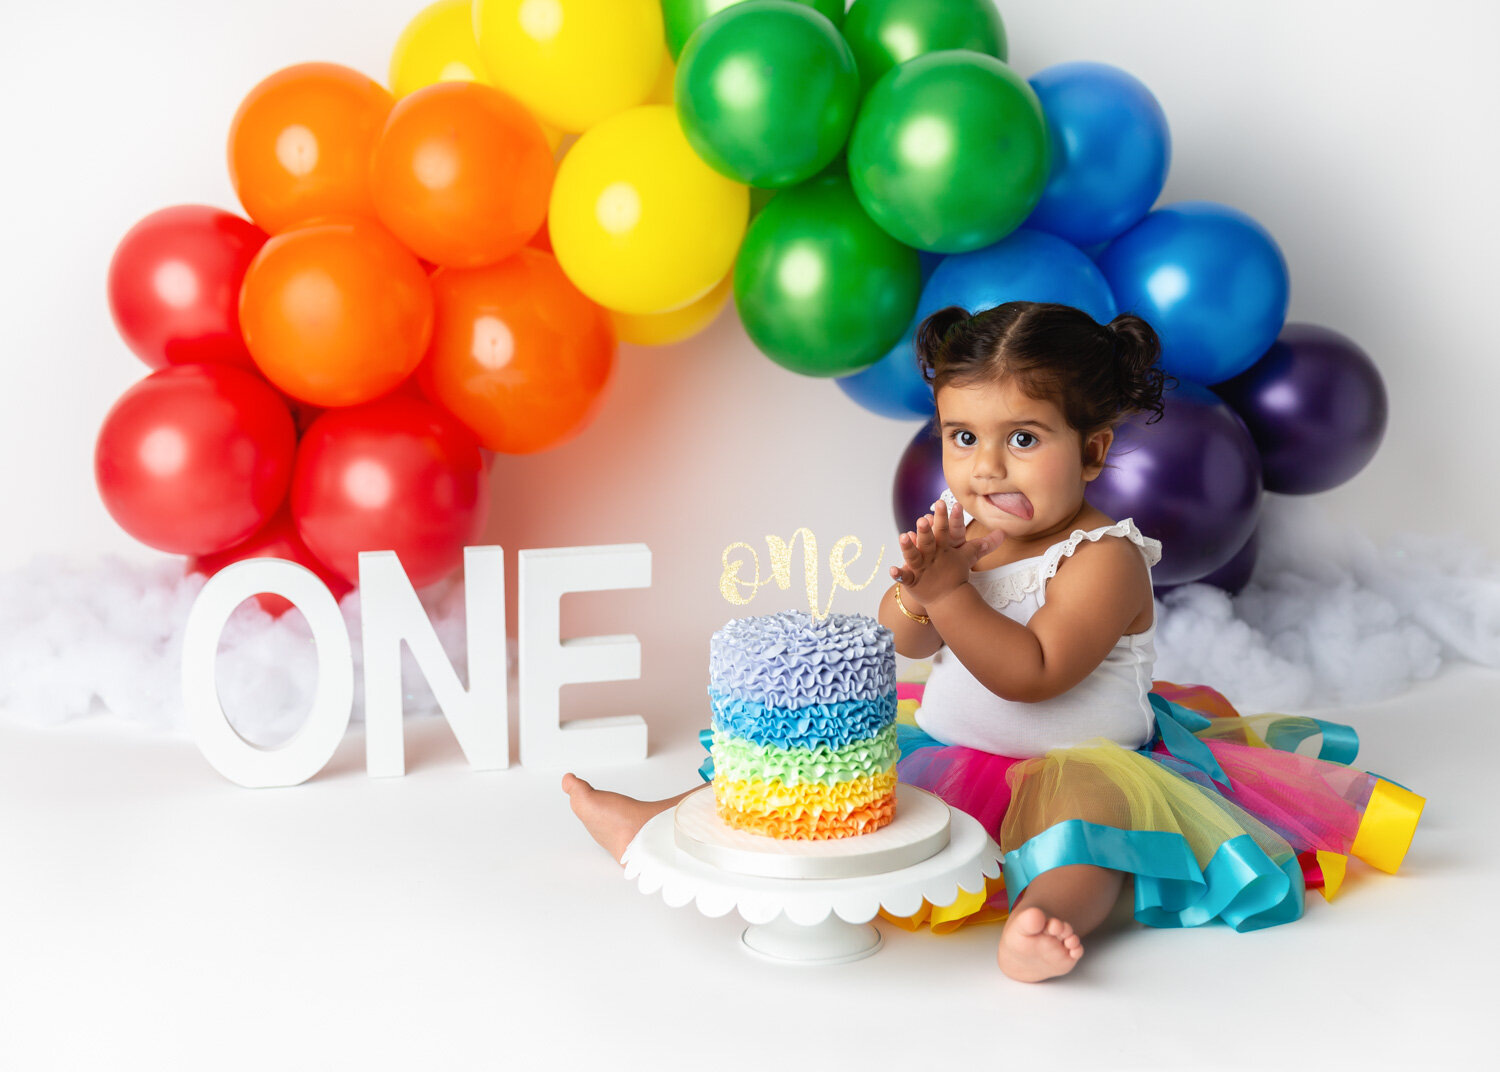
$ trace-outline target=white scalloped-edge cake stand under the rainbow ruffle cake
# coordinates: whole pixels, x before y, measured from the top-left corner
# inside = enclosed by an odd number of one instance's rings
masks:
[[[765,838],[747,849],[742,831],[711,829],[712,789],[699,792],[710,793],[706,802],[694,795],[678,804],[688,816],[682,826],[669,810],[640,828],[621,858],[626,879],[672,907],[696,904],[711,918],[738,910],[750,924],[741,946],[776,964],[861,960],[884,943],[870,925],[882,910],[910,916],[922,901],[952,904],[960,889],[978,894],[1000,874],[1000,850],[984,828],[912,786],[897,787],[888,828],[824,847]],[[932,837],[942,826],[946,838]],[[927,855],[914,859],[914,846]]]

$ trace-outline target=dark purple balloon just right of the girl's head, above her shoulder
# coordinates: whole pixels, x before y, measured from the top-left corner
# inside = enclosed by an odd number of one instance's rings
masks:
[[[1245,546],[1260,514],[1260,454],[1245,423],[1204,387],[1180,382],[1155,424],[1120,424],[1110,465],[1088,499],[1116,520],[1134,517],[1161,540],[1158,585],[1198,580]]]

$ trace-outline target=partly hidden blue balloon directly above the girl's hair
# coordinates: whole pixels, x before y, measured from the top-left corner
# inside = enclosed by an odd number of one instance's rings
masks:
[[[922,288],[916,319],[946,306],[976,313],[1006,301],[1056,301],[1100,324],[1114,319],[1114,295],[1094,261],[1054,234],[1024,228],[993,246],[945,256]]]

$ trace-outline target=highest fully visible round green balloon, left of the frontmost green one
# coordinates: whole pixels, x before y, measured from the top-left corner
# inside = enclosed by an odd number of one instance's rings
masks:
[[[704,22],[676,67],[676,115],[708,166],[796,186],[849,138],[860,73],[838,30],[790,0],[746,0]]]

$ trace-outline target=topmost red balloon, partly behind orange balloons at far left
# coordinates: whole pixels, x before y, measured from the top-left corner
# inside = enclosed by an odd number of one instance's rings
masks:
[[[224,361],[250,367],[240,282],[266,232],[210,205],[172,205],[132,226],[110,261],[110,312],[153,369]]]

